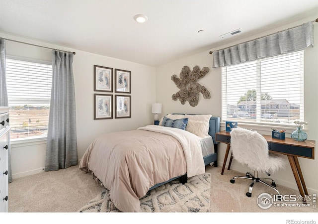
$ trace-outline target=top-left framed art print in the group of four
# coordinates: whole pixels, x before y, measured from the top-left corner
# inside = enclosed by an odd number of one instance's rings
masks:
[[[113,92],[113,69],[94,65],[94,91]]]

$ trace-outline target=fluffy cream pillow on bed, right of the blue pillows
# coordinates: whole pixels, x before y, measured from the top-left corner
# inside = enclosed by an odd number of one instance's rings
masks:
[[[196,115],[185,114],[184,117],[189,118],[189,121],[185,130],[200,137],[208,136],[211,116],[212,116],[211,114],[202,114],[202,115],[201,114],[196,114]]]

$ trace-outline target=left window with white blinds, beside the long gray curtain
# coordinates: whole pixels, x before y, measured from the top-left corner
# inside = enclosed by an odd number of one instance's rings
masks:
[[[52,65],[6,59],[10,139],[47,136]]]

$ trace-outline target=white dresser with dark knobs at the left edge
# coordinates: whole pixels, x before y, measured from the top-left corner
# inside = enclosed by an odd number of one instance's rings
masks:
[[[8,212],[9,108],[0,107],[0,212]]]

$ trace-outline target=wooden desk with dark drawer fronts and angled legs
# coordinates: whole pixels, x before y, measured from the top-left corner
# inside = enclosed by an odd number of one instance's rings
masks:
[[[292,168],[299,193],[305,198],[308,195],[307,187],[303,177],[300,164],[298,162],[298,157],[315,159],[315,144],[316,141],[306,140],[306,141],[295,141],[292,138],[286,138],[285,140],[272,138],[271,135],[263,135],[268,142],[268,150],[273,153],[279,153],[287,155],[289,164]],[[215,139],[217,142],[226,143],[227,150],[225,152],[223,167],[221,174],[223,175],[226,162],[228,160],[230,148],[231,148],[231,135],[230,132],[220,131],[215,133]],[[228,170],[232,163],[232,153],[228,166]]]

